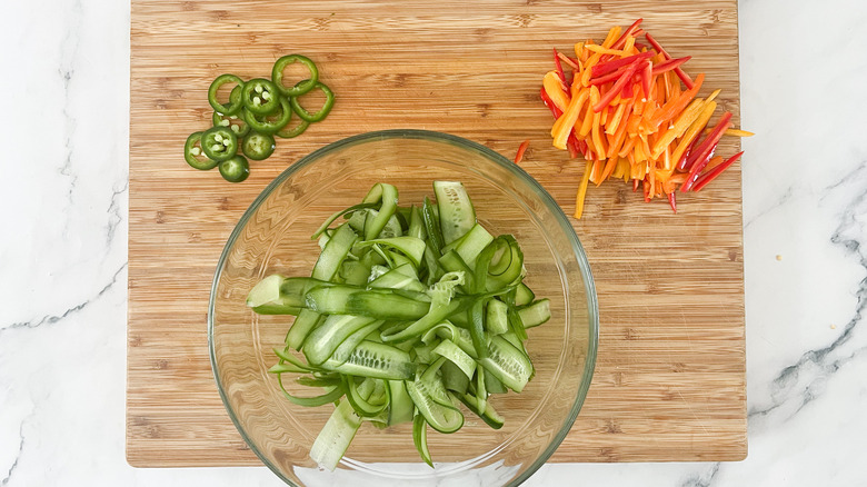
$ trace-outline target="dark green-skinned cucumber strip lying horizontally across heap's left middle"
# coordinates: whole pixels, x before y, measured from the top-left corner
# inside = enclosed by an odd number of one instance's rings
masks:
[[[325,315],[358,315],[378,319],[419,319],[430,304],[391,290],[363,290],[349,286],[320,287],[307,294],[307,307]]]

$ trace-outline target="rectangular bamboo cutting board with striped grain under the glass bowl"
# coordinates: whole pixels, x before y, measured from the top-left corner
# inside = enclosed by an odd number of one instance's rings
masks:
[[[287,166],[370,130],[451,132],[512,157],[574,210],[584,169],[551,147],[538,99],[551,48],[644,27],[739,122],[737,3],[672,1],[132,0],[127,457],[141,467],[257,465],[217,394],[206,337],[217,259],[241,213]],[[230,185],[190,169],[220,73],[267,77],[305,53],[338,96],[328,119]],[[721,110],[720,110],[721,111]],[[726,140],[721,153],[734,153]],[[747,161],[749,159],[747,158]],[[551,461],[738,460],[746,456],[740,172],[646,205],[591,188],[575,228],[599,295],[589,395]]]

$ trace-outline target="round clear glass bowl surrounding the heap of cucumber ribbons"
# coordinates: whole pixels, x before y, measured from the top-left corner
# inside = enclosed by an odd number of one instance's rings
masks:
[[[306,408],[283,398],[267,370],[277,361],[272,349],[283,347],[292,317],[251,312],[247,294],[270,274],[309,276],[319,255],[310,236],[326,217],[361,201],[373,183],[390,182],[401,205],[418,205],[425,196],[432,198],[437,179],[464,182],[479,221],[492,235],[517,238],[525,252],[525,282],[537,298],[550,299],[550,321],[528,330],[536,376],[521,394],[491,397],[506,418],[501,429],[491,429],[466,409],[459,431],[429,429],[436,468],[419,458],[411,424],[377,429],[365,423],[338,468],[320,469],[309,451],[333,406]],[[289,485],[518,485],[554,454],[587,395],[598,342],[596,290],[569,220],[520,167],[446,133],[370,132],[305,157],[252,202],[217,266],[208,341],[217,386],[235,426]],[[298,386],[296,392],[311,391]]]

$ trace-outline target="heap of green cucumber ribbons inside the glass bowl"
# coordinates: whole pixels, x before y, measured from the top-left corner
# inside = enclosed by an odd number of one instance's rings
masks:
[[[337,401],[310,453],[325,468],[337,466],[362,420],[377,428],[412,421],[419,456],[432,466],[428,426],[459,430],[462,402],[500,428],[490,395],[520,391],[534,375],[526,328],[550,309],[522,282],[520,246],[476,221],[461,183],[434,187],[436,206],[401,207],[397,188],[376,185],[316,231],[321,252],[311,277],[275,274],[247,296],[256,312],[297,316],[269,369],[287,399]],[[318,391],[290,394],[286,374]]]

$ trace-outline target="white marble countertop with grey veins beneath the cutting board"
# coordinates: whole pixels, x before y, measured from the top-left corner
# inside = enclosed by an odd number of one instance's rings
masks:
[[[0,486],[277,486],[124,459],[129,14],[0,17]],[[867,483],[865,21],[857,0],[740,1],[748,458],[548,465],[528,485]]]

